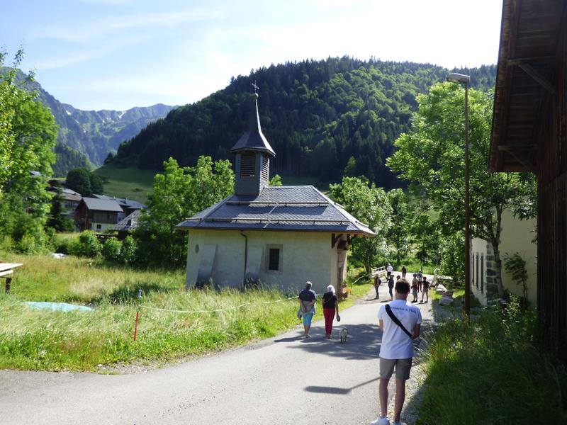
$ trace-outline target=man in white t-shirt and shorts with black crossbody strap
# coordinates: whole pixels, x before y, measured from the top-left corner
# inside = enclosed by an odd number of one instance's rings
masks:
[[[388,382],[395,367],[395,402],[393,425],[402,424],[402,413],[405,400],[405,381],[410,378],[412,357],[414,356],[412,340],[420,336],[421,312],[420,309],[408,303],[410,284],[408,280],[400,279],[395,283],[395,300],[388,303],[391,313],[400,324],[386,311],[386,305],[378,310],[380,329],[382,329],[382,344],[380,347],[380,397],[381,414],[372,421],[371,425],[390,425],[388,418]],[[409,333],[409,335],[408,335]]]

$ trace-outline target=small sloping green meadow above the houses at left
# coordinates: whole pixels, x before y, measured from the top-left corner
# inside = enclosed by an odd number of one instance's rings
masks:
[[[108,179],[104,183],[104,194],[128,198],[147,203],[147,196],[152,192],[152,183],[157,171],[141,170],[135,167],[119,167],[104,165],[94,171],[94,174]]]

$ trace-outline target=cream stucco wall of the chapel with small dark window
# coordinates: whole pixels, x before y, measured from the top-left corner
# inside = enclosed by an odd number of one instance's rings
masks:
[[[329,284],[337,288],[337,249],[331,248],[330,233],[266,231],[242,233],[248,237],[249,255],[257,249],[262,249],[262,261],[259,267],[259,279],[262,283],[276,285],[286,292],[296,292],[303,288],[306,280],[313,283],[316,293],[325,292]],[[267,270],[266,246],[270,244],[281,245],[281,271]],[[206,245],[209,245],[208,249]],[[206,255],[207,250],[210,251],[211,245],[216,245],[212,271],[213,283],[220,286],[240,287],[245,267],[245,238],[240,234],[240,230],[189,230],[187,285],[195,285],[202,256]],[[345,260],[345,275],[346,269]]]

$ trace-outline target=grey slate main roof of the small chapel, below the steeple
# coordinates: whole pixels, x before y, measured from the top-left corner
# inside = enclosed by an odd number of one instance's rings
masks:
[[[374,237],[374,232],[313,186],[266,186],[258,196],[232,195],[177,229],[286,230]]]

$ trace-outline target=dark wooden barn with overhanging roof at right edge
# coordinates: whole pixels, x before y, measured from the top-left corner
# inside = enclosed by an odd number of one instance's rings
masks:
[[[503,2],[489,166],[537,176],[541,336],[567,363],[566,5]]]

